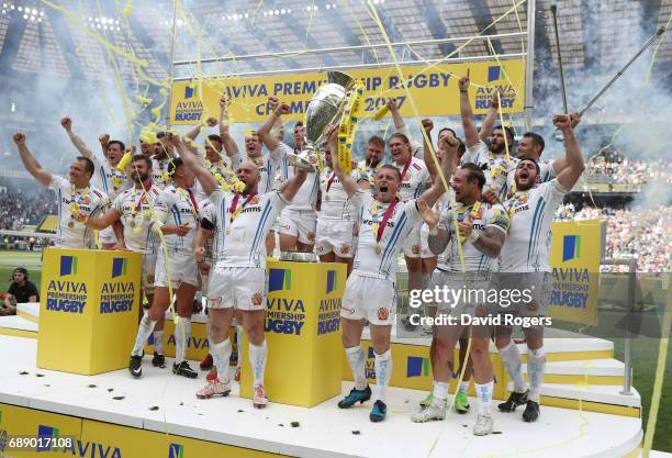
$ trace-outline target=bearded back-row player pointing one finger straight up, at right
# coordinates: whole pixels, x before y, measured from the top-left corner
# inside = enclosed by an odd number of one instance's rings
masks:
[[[508,192],[507,179],[512,157],[506,154],[506,146],[508,145],[509,152],[513,150],[514,132],[511,127],[495,126],[490,136],[490,148],[488,147],[473,122],[473,112],[469,101],[469,70],[467,70],[467,76],[461,77],[458,81],[460,114],[464,127],[464,144],[467,145],[467,153],[462,156],[460,164],[472,163],[484,170],[483,198],[488,202],[494,203],[503,201]],[[483,134],[486,134],[486,129],[482,129],[482,131]]]

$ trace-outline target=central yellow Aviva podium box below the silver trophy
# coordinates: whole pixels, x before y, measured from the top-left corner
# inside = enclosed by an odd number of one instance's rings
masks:
[[[268,264],[266,393],[271,402],[312,407],[340,394],[344,264]],[[240,395],[251,398],[249,344],[243,339]]]

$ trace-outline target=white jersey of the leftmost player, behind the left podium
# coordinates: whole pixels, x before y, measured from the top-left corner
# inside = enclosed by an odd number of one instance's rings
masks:
[[[96,188],[77,189],[58,175],[52,175],[48,188],[56,191],[58,198],[56,246],[59,248],[94,248],[93,230],[72,217],[70,204],[78,205],[76,213],[83,213],[90,217],[104,213],[110,204],[110,199]]]

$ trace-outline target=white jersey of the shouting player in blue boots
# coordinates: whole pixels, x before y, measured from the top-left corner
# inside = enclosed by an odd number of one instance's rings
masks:
[[[376,241],[377,234],[373,230],[380,227],[392,203],[381,203],[373,199],[369,191],[362,189],[358,189],[350,200],[359,215],[359,237],[352,271],[367,277],[396,281],[399,252],[408,233],[422,221],[416,200],[396,202],[387,221],[380,243]]]

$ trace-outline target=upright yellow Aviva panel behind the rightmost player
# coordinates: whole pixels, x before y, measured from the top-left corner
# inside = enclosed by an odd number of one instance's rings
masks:
[[[549,316],[572,323],[597,322],[602,222],[551,224],[552,291]]]

